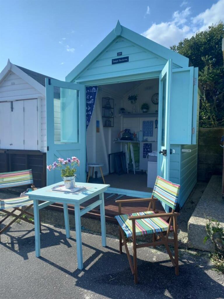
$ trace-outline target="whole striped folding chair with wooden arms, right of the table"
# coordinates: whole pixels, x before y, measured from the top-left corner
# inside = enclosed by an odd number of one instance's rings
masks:
[[[165,245],[168,251],[169,257],[173,266],[175,267],[175,274],[179,275],[178,268],[178,240],[177,240],[177,216],[179,213],[175,212],[177,198],[179,196],[180,185],[173,184],[160,176],[157,176],[156,183],[152,192],[151,198],[141,199],[124,199],[116,200],[119,204],[119,215],[115,216],[119,224],[119,247],[120,254],[122,254],[122,246],[125,246],[125,250],[128,257],[128,262],[131,268],[131,273],[134,275],[134,282],[138,283],[138,272],[137,272],[137,255],[136,249],[142,247],[157,245]],[[161,202],[172,208],[171,213],[158,213],[155,210],[155,201],[159,199]],[[132,213],[132,214],[121,214],[122,203],[127,202],[145,202],[149,201],[148,210],[146,212]],[[150,210],[152,208],[152,210]],[[169,221],[166,222],[161,217],[169,217]],[[174,238],[169,238],[170,232],[174,233]],[[142,236],[152,234],[153,242],[136,244],[136,236]],[[127,241],[132,240],[133,242],[133,260],[128,251]],[[122,242],[123,240],[123,242]],[[170,251],[169,244],[174,244],[174,257]]]

